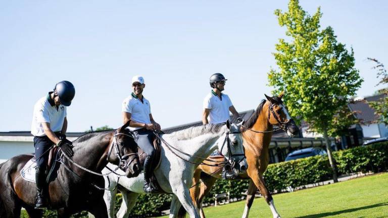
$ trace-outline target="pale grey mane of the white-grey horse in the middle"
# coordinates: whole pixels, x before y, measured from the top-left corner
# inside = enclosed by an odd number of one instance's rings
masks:
[[[225,124],[206,124],[198,127],[190,127],[169,134],[176,140],[189,140],[208,133],[219,133]]]

